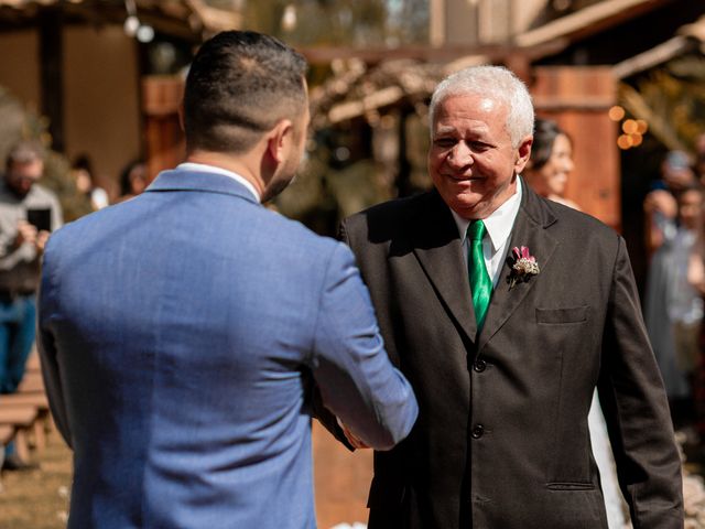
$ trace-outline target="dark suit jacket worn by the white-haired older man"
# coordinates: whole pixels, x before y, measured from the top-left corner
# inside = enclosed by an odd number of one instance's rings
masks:
[[[681,464],[623,239],[523,185],[477,335],[458,230],[436,192],[343,223],[420,414],[375,454],[370,529],[607,528],[587,413],[595,386],[634,527],[682,528]]]

